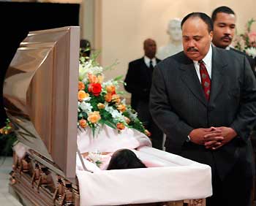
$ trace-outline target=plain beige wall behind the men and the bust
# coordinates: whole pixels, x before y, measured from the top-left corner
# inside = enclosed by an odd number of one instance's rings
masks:
[[[211,15],[214,8],[231,7],[238,17],[238,31],[244,29],[249,18],[256,19],[255,0],[95,0],[94,45],[101,50],[103,66],[119,61],[106,77],[125,75],[129,61],[143,56],[144,39],[151,37],[157,45],[168,41],[168,20],[183,18],[189,12],[206,12]],[[86,25],[85,25],[86,27]],[[86,28],[85,28],[86,29]]]

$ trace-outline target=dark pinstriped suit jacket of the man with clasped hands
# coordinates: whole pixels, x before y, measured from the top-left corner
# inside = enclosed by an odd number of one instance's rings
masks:
[[[256,118],[256,82],[245,56],[213,47],[211,94],[207,102],[193,61],[183,52],[157,64],[151,115],[167,135],[167,151],[217,168],[224,178],[238,162],[252,175],[249,134]],[[192,129],[227,126],[238,137],[217,150],[187,142]],[[216,171],[215,171],[216,172]]]

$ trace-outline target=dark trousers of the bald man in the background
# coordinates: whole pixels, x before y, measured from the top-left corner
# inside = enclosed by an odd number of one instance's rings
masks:
[[[140,119],[140,121],[142,121],[143,126],[145,126],[145,128],[148,129],[149,132],[151,132],[150,139],[153,148],[162,150],[162,141],[164,134],[161,129],[159,129],[157,124],[154,123],[149,112],[148,102],[138,102],[136,111],[138,112],[138,118]]]

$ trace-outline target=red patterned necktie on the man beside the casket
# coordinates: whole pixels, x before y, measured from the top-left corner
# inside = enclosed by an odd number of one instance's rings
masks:
[[[206,99],[209,100],[210,98],[210,91],[211,91],[211,80],[208,75],[206,65],[203,63],[203,60],[198,61],[200,66],[200,76],[201,76],[201,84],[203,87],[203,91],[206,94]]]

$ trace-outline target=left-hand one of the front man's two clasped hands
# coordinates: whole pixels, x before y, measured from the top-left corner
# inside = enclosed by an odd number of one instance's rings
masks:
[[[211,141],[213,145],[215,145],[217,142],[223,140],[223,137],[221,137],[220,134],[221,134],[221,131],[212,126],[210,128],[193,129],[189,133],[189,137],[190,137],[190,141],[197,145],[205,145],[205,142],[206,142],[205,137],[208,137],[208,140]],[[207,135],[210,135],[210,136],[207,136]]]

